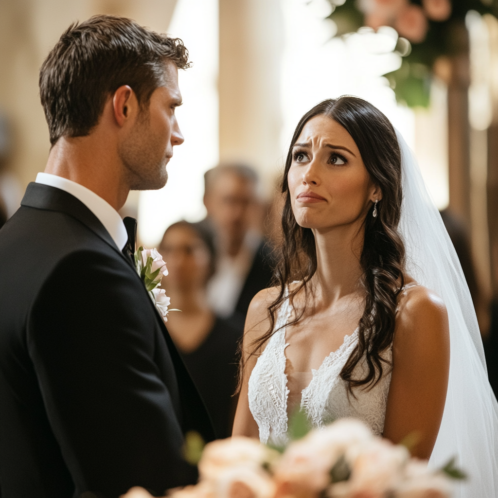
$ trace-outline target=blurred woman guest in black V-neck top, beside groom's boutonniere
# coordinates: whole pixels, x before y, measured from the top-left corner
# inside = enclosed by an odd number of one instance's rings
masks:
[[[218,438],[229,437],[237,400],[237,349],[241,333],[208,304],[207,282],[215,248],[206,225],[181,221],[165,232],[159,252],[169,274],[162,288],[171,298],[167,327],[212,418]]]

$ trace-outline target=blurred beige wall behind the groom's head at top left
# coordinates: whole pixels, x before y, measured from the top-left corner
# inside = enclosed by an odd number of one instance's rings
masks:
[[[38,70],[73,21],[97,13],[132,17],[166,31],[176,0],[1,0],[0,111],[10,121],[13,147],[6,167],[22,188],[43,171],[48,130],[38,97]]]

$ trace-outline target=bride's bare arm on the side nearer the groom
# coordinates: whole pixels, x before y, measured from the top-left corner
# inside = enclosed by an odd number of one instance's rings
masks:
[[[251,343],[261,337],[269,327],[268,306],[274,299],[275,289],[263,289],[258,292],[249,305],[244,328],[244,341],[242,344],[242,355],[245,360],[242,372],[242,385],[239,393],[239,401],[235,412],[233,436],[249,436],[259,439],[259,428],[249,410],[248,384],[249,377],[256,365],[257,357],[249,356],[253,346]]]

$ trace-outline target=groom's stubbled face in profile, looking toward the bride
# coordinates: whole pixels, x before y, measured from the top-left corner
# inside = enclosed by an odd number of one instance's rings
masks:
[[[167,61],[163,86],[154,90],[148,107],[140,111],[119,146],[131,190],[157,190],[166,184],[166,165],[173,156],[173,146],[183,143],[175,116],[181,102],[178,69]]]

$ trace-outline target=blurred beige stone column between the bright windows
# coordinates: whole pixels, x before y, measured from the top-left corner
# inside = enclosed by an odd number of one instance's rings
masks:
[[[282,155],[280,0],[219,2],[220,160],[247,162],[268,185]]]

